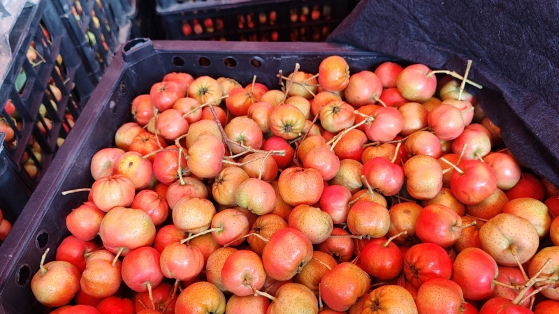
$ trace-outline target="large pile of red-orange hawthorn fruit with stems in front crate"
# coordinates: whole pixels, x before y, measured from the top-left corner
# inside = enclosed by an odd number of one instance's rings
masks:
[[[470,64],[350,75],[332,56],[281,90],[168,73],[92,158],[34,295],[66,314],[558,313],[559,190],[504,147]]]

